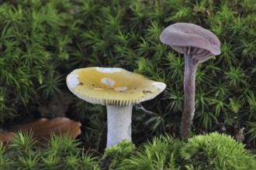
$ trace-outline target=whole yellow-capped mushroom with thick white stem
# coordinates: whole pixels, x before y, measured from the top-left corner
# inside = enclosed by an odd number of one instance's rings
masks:
[[[88,67],[72,71],[67,87],[82,100],[106,105],[109,148],[125,139],[131,141],[133,104],[153,99],[166,84],[121,68]]]

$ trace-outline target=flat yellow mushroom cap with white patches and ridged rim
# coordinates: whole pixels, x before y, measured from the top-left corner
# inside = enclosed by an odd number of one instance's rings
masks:
[[[121,68],[88,67],[68,74],[67,87],[92,104],[129,106],[153,99],[166,84]]]

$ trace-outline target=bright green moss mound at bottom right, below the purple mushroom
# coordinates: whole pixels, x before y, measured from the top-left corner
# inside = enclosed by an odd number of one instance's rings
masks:
[[[255,156],[227,134],[206,134],[187,143],[154,138],[125,158],[116,169],[253,169]]]

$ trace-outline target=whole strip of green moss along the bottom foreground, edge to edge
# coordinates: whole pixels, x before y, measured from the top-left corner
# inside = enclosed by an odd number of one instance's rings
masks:
[[[227,134],[206,134],[183,142],[168,134],[135,147],[130,141],[89,154],[66,134],[40,145],[31,133],[0,145],[2,169],[254,169],[255,155]],[[91,153],[93,153],[91,151]]]

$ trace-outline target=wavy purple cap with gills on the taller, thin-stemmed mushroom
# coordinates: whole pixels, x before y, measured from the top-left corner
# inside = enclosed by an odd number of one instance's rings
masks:
[[[176,23],[161,32],[161,42],[199,63],[220,54],[220,40],[207,29],[191,23]]]

